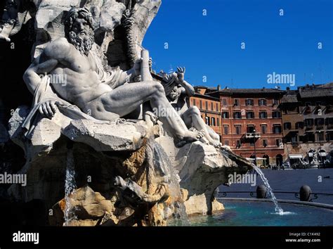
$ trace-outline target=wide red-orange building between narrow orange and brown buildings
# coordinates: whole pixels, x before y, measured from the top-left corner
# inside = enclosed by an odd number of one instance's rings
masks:
[[[282,113],[279,89],[208,89],[205,94],[221,103],[221,136],[225,145],[258,164],[281,165]],[[262,160],[260,158],[265,158]]]

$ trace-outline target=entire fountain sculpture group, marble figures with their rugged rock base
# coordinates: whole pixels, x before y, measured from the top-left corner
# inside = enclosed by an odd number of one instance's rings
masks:
[[[34,42],[23,75],[32,107],[8,122],[29,184],[7,193],[52,209],[44,225],[165,226],[211,214],[223,210],[214,191],[228,174],[252,167],[188,106],[185,68],[152,75],[142,41],[161,3],[6,0],[0,39],[30,18]]]

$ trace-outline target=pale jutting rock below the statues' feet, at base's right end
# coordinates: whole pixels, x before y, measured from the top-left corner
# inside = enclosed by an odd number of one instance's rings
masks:
[[[181,188],[188,191],[184,203],[188,215],[223,210],[221,203],[214,202],[215,189],[228,182],[228,174],[244,174],[249,169],[246,162],[237,162],[227,155],[221,148],[200,142],[189,143],[176,153]]]

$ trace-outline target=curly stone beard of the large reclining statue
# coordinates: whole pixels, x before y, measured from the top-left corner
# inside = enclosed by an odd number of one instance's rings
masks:
[[[93,37],[93,31],[89,32],[89,34],[77,34],[74,31],[71,31],[68,39],[70,43],[75,46],[75,49],[85,56],[89,55],[89,51],[91,51],[93,41],[95,40]]]

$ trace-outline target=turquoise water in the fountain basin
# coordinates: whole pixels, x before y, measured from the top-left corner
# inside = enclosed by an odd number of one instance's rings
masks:
[[[223,201],[226,210],[216,215],[190,217],[190,226],[333,226],[333,210],[280,203],[278,215],[273,203]]]

